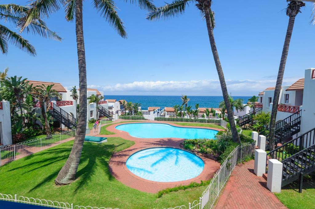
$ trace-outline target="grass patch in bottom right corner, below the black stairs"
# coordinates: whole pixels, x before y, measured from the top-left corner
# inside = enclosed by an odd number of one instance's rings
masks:
[[[314,180],[314,178],[313,178]],[[293,182],[275,195],[289,209],[315,208],[315,183],[312,180],[303,182],[302,193],[299,193],[299,182]]]

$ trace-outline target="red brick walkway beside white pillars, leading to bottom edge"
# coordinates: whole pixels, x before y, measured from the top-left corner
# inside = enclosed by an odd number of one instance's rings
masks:
[[[287,208],[266,185],[263,177],[254,174],[254,160],[238,164],[226,183],[215,209]]]

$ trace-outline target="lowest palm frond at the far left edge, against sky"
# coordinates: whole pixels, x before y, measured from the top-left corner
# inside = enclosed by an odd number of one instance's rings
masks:
[[[0,25],[0,47],[2,53],[8,52],[8,41],[10,41],[19,49],[24,50],[33,56],[36,55],[35,48],[29,43],[29,41],[9,28]]]

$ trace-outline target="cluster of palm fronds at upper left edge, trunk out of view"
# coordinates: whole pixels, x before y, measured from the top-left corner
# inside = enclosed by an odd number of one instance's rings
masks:
[[[28,7],[20,6],[17,4],[0,4],[0,19],[4,20],[4,23],[9,22],[9,25],[14,28],[20,28],[20,19],[28,11]],[[33,19],[29,25],[25,28],[26,33],[34,33],[44,38],[51,38],[57,41],[61,41],[62,38],[57,33],[48,29],[45,22],[40,19]],[[8,53],[8,43],[13,43],[16,47],[23,51],[28,52],[32,56],[36,55],[35,48],[20,36],[18,33],[10,30],[5,25],[0,24],[0,50],[3,54]]]

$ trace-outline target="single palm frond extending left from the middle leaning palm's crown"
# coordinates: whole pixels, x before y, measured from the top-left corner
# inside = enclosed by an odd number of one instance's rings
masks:
[[[148,20],[166,19],[168,17],[177,17],[183,14],[188,2],[192,0],[175,0],[170,4],[166,4],[163,7],[158,7],[155,10],[149,12],[146,16]]]

